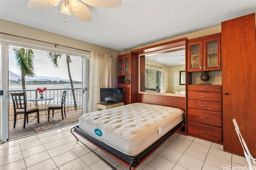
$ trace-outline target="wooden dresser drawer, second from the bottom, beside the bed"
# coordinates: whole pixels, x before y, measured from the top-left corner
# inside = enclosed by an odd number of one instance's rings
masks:
[[[222,127],[222,113],[206,110],[187,109],[188,121]]]

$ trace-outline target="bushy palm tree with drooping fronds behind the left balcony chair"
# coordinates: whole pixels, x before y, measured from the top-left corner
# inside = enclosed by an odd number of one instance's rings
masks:
[[[22,90],[26,90],[25,77],[33,78],[34,73],[34,51],[32,49],[14,47],[14,58],[17,62],[16,66],[21,71]]]

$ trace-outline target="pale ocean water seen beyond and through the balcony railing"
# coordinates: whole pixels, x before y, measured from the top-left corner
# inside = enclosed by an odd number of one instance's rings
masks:
[[[27,94],[27,100],[30,99],[36,99],[40,97],[37,88],[44,88],[46,87],[47,90],[44,92],[44,98],[54,98],[54,100],[50,101],[50,104],[60,104],[62,93],[64,90],[67,90],[67,96],[66,96],[66,106],[74,106],[74,100],[71,90],[70,84],[36,84],[36,85],[26,85],[26,94]],[[74,84],[75,96],[76,96],[76,103],[77,106],[82,106],[82,84]],[[58,90],[57,90],[58,89]],[[9,84],[9,91],[22,91],[22,86],[17,84]],[[12,98],[10,96],[10,102],[12,102]]]

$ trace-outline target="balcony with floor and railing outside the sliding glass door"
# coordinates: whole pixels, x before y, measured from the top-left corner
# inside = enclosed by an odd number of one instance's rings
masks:
[[[74,104],[72,89],[74,89],[74,94],[76,98],[76,108]],[[15,129],[13,129],[14,124],[14,112],[13,112],[13,104],[12,97],[10,96],[9,101],[9,140],[16,139],[19,137],[24,137],[27,135],[32,135],[35,133],[39,133],[40,131],[51,130],[51,128],[63,127],[65,125],[71,125],[78,123],[78,118],[82,115],[82,88],[65,88],[65,89],[47,89],[44,92],[44,98],[53,98],[53,100],[46,101],[46,104],[61,104],[61,98],[63,91],[67,91],[66,95],[66,117],[64,116],[64,120],[62,120],[61,110],[54,111],[54,120],[48,121],[46,117],[47,111],[40,111],[40,123],[36,123],[36,119],[34,119],[36,113],[29,114],[28,123],[26,123],[26,127],[23,129],[24,123],[24,115],[17,115],[17,121]],[[10,93],[20,93],[26,91],[27,101],[31,99],[39,98],[37,90],[10,90]],[[33,102],[27,102],[27,107],[36,107]],[[45,101],[38,102],[39,108],[45,107]],[[50,114],[52,117],[52,112]],[[34,119],[34,120],[33,120]]]

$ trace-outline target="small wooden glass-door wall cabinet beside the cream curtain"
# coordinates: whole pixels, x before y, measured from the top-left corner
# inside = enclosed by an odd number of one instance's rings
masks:
[[[118,76],[130,75],[130,54],[118,55]]]

